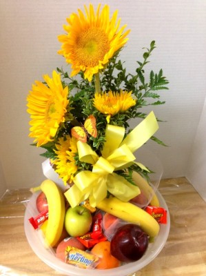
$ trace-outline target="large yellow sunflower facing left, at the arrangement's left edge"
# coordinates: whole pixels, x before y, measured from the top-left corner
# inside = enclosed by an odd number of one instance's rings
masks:
[[[48,84],[35,81],[32,91],[28,95],[28,113],[30,113],[30,134],[37,146],[52,141],[59,128],[59,124],[65,121],[65,113],[68,106],[68,87],[63,88],[61,77],[53,71],[52,78],[43,76]]]

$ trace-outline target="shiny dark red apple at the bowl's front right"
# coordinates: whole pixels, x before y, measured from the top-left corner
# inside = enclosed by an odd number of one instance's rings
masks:
[[[121,262],[140,259],[148,247],[148,237],[136,224],[125,224],[116,230],[111,240],[111,253]]]

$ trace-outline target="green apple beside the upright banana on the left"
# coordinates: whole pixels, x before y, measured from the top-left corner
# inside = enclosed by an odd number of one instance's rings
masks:
[[[92,226],[90,210],[84,206],[70,207],[65,213],[65,230],[72,237],[80,237],[89,232]]]

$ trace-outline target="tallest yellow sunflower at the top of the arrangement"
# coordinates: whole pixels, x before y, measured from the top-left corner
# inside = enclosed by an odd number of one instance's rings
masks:
[[[72,76],[82,70],[89,81],[125,45],[130,32],[123,33],[126,25],[119,28],[121,20],[117,21],[117,10],[110,19],[110,7],[105,5],[101,12],[100,7],[99,4],[96,14],[92,4],[89,10],[85,6],[85,15],[81,10],[79,14],[72,13],[67,19],[68,26],[63,26],[68,34],[58,37],[63,43],[59,54],[72,64]]]

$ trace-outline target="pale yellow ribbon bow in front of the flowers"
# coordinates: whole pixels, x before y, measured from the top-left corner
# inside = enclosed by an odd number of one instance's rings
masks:
[[[125,128],[107,125],[105,130],[105,144],[99,157],[94,150],[81,141],[77,142],[79,160],[92,164],[92,171],[82,170],[74,177],[74,185],[65,192],[72,207],[89,198],[90,205],[95,207],[107,197],[109,191],[122,201],[129,201],[140,193],[138,186],[130,184],[124,177],[115,173],[115,170],[128,168],[136,163],[132,152],[143,146],[158,130],[154,112],[150,112],[125,139]],[[136,163],[147,170],[141,163]]]

